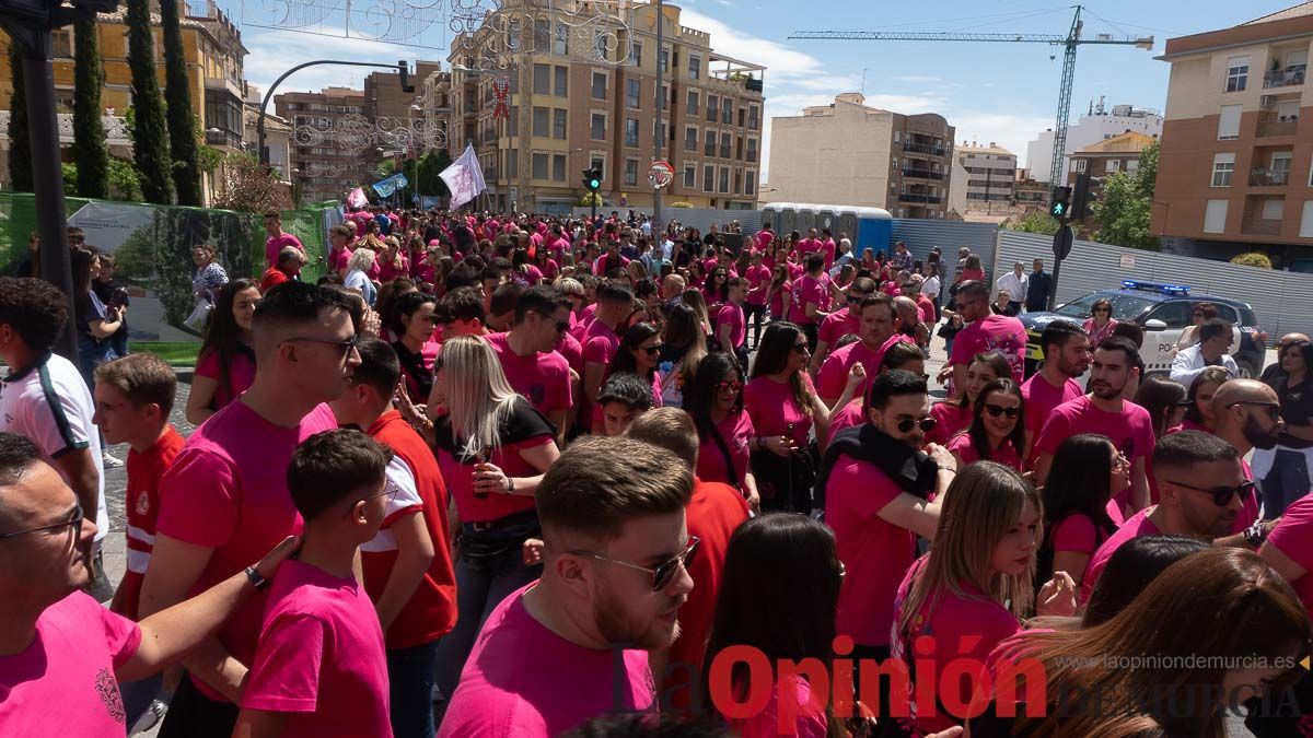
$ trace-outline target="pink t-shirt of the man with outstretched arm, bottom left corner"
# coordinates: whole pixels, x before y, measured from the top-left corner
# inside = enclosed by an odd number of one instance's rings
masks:
[[[114,670],[137,654],[142,632],[84,592],[37,617],[37,637],[0,657],[0,725],[5,735],[123,735]]]

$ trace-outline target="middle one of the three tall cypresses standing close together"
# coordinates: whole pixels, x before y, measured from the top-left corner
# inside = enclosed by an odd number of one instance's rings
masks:
[[[150,0],[127,0],[127,66],[133,72],[133,162],[146,202],[171,205],[173,179],[168,155],[164,97],[155,77],[155,35]]]

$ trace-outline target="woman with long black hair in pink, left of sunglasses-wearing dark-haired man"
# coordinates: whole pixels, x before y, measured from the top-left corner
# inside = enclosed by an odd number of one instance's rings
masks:
[[[1048,536],[1040,576],[1066,571],[1079,590],[1094,552],[1117,529],[1108,500],[1129,485],[1130,465],[1107,436],[1082,433],[1062,441],[1044,485]]]

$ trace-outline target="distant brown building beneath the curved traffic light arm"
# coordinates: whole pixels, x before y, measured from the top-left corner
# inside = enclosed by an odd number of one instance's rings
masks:
[[[368,180],[377,158],[364,156],[364,142],[340,122],[365,114],[365,92],[328,87],[319,92],[282,92],[273,97],[278,117],[291,126],[293,181],[303,201],[340,198]]]

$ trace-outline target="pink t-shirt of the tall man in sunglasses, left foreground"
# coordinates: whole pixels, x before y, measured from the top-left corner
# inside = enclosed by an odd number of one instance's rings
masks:
[[[288,491],[288,462],[301,441],[337,427],[327,404],[295,428],[269,423],[242,402],[215,412],[186,440],[160,481],[159,532],[214,553],[188,596],[243,571],[282,538],[301,532],[301,515]],[[265,596],[238,605],[218,637],[242,663],[251,663],[260,638]],[[223,697],[193,678],[211,700]]]

